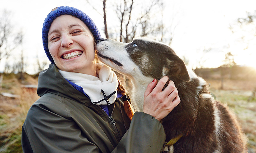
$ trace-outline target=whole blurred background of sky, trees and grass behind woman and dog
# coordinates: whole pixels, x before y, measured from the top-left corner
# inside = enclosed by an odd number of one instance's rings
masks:
[[[57,6],[89,15],[103,38],[169,45],[233,111],[256,152],[255,0],[0,0],[0,152],[22,152],[21,126],[50,64],[42,25]],[[126,89],[128,77],[119,75]]]

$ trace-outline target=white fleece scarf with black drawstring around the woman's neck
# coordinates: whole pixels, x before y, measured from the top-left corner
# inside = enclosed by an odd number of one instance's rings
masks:
[[[97,64],[97,77],[60,69],[59,72],[68,81],[83,87],[84,93],[89,96],[93,104],[110,105],[116,100],[117,76],[107,65]]]

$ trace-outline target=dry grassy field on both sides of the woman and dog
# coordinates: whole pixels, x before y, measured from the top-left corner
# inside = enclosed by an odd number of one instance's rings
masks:
[[[224,90],[220,90],[220,80],[207,80],[211,92],[217,100],[225,103],[236,114],[248,138],[248,153],[256,152],[256,99],[248,101],[256,87],[254,82],[224,80]],[[37,84],[37,79],[27,76],[23,84]],[[20,98],[6,98],[0,95],[0,152],[22,153],[21,126],[29,107],[38,99],[36,91],[22,88],[15,76],[4,76],[0,92],[20,95]]]

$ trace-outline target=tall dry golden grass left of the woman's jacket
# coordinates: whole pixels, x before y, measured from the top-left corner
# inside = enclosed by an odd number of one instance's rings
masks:
[[[22,153],[21,127],[28,109],[39,97],[35,90],[21,88],[21,84],[15,77],[5,79],[3,84],[4,88],[0,92],[20,95],[20,98],[7,98],[0,95],[0,152]]]

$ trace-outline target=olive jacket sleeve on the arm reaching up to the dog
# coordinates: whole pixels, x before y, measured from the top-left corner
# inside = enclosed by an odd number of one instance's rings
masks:
[[[149,114],[135,112],[129,130],[112,153],[159,153],[166,135],[162,124]]]

